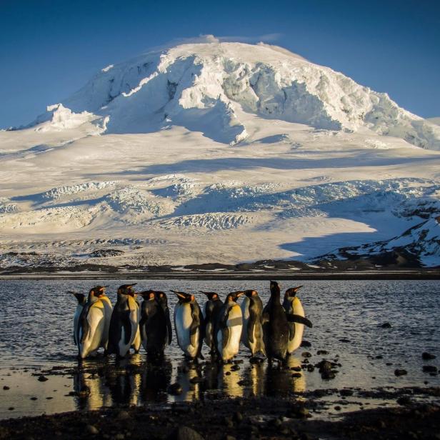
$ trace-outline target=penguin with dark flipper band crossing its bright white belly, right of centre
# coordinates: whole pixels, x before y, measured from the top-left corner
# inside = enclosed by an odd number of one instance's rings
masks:
[[[239,352],[243,316],[236,301],[243,294],[242,291],[228,294],[217,317],[215,328],[216,349],[219,359],[223,362],[231,361]]]

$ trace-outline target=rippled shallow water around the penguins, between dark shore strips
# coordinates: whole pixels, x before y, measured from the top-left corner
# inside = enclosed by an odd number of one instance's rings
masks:
[[[86,292],[97,284],[109,285],[107,293],[114,302],[116,288],[126,282],[135,281],[0,281],[3,311],[0,321],[0,418],[96,409],[112,404],[164,404],[201,399],[215,393],[281,396],[319,388],[424,386],[426,382],[440,385],[440,376],[422,371],[424,364],[439,366],[439,281],[301,281],[304,287],[299,297],[306,316],[314,323],[313,329],[305,330],[304,339],[312,345],[291,356],[289,366],[301,365],[304,351],[311,352],[311,364],[323,357],[336,359],[341,367],[331,381],[322,380],[316,370],[303,370],[301,377],[296,378],[291,376],[293,371],[270,368],[267,362],[252,365],[244,346],[238,356],[243,362],[236,371],[231,365],[211,364],[206,348],[204,354],[208,362],[199,367],[189,365],[184,362],[175,336],[164,363],[159,366],[147,362],[146,354],[141,351],[120,363],[102,357],[84,362],[86,370],[106,367],[106,373],[101,376],[91,376],[89,372],[73,376],[50,375],[46,382],[31,376],[41,369],[69,368],[78,364],[72,339],[76,300],[66,291]],[[264,303],[269,297],[269,281],[138,282],[139,289],[215,290],[222,297],[229,291],[256,289]],[[295,284],[284,281],[281,289]],[[202,304],[204,295],[196,294],[196,297]],[[169,295],[171,314],[175,302]],[[385,322],[391,324],[391,329],[381,328]],[[318,356],[316,351],[323,349],[329,354]],[[435,354],[437,359],[422,361],[423,351]],[[136,368],[131,369],[131,366]],[[396,368],[404,368],[408,374],[396,377]],[[184,389],[180,396],[166,393],[174,381],[179,381]],[[69,391],[79,391],[84,385],[91,391],[87,398],[66,396]],[[10,389],[4,390],[3,386]],[[14,410],[9,410],[11,406]]]

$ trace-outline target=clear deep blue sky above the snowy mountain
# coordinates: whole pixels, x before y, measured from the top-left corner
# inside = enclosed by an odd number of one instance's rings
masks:
[[[0,127],[30,122],[108,64],[199,34],[284,46],[440,116],[438,0],[0,0]]]

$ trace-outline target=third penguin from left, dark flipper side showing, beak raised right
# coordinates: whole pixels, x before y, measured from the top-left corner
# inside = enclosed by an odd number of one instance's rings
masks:
[[[139,309],[133,286],[124,284],[118,289],[118,299],[111,314],[108,353],[124,358],[133,345],[139,327]]]

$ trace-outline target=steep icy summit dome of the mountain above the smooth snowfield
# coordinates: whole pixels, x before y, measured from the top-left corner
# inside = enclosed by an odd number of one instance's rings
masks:
[[[184,44],[145,54],[102,69],[63,106],[106,118],[106,133],[178,125],[236,144],[249,136],[245,112],[316,129],[366,127],[440,149],[439,127],[399,108],[388,95],[266,44]],[[65,110],[48,111],[36,123],[52,118],[58,126]]]

